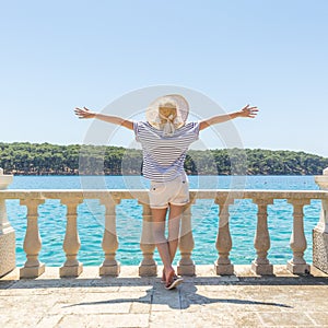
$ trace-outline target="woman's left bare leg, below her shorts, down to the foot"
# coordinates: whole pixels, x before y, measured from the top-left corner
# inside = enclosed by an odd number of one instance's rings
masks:
[[[165,238],[166,212],[167,209],[152,209],[152,225],[154,241],[164,266],[165,281],[166,284],[169,284],[174,277],[174,269],[172,267],[168,242]]]

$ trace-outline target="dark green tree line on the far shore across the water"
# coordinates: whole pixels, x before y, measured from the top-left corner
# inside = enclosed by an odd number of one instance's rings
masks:
[[[218,149],[187,153],[190,175],[319,175],[328,159],[294,151]],[[0,167],[15,175],[139,175],[138,149],[104,145],[0,142]]]

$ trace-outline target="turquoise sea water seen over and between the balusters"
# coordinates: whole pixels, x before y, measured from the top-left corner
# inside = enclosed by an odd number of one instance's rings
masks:
[[[318,189],[312,176],[191,176],[190,188],[243,188],[246,189]],[[10,189],[79,189],[90,188],[147,188],[140,177],[84,177],[79,176],[15,176]],[[8,200],[9,220],[16,231],[16,263],[26,260],[23,242],[26,230],[26,208],[19,200]],[[117,259],[122,265],[139,265],[142,254],[139,241],[142,226],[142,209],[134,200],[122,200],[116,208],[119,249]],[[256,231],[257,207],[251,200],[237,201],[230,208],[233,248],[231,259],[236,265],[250,263],[256,256],[254,235]],[[79,206],[78,225],[81,239],[79,260],[84,266],[99,266],[104,259],[102,249],[103,207],[96,200]],[[305,259],[312,262],[312,230],[317,224],[320,201],[313,200],[304,207],[304,229],[307,239]],[[271,238],[269,259],[272,263],[285,263],[291,257],[289,241],[292,232],[292,207],[285,200],[276,200],[268,207],[268,225]],[[46,200],[39,206],[39,232],[43,247],[39,258],[47,266],[61,266],[65,261],[62,243],[66,230],[66,207],[59,200]],[[197,200],[192,206],[192,231],[195,249],[192,259],[198,265],[212,263],[218,257],[215,238],[218,233],[218,206],[213,200]],[[155,259],[160,260],[157,253]],[[179,259],[177,255],[176,259]]]

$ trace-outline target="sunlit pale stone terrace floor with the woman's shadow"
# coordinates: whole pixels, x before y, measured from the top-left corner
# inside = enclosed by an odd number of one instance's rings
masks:
[[[160,278],[139,278],[137,267],[122,267],[119,278],[99,278],[97,270],[60,279],[58,268],[46,268],[34,280],[17,280],[14,270],[0,279],[0,326],[328,327],[328,274],[313,267],[306,277],[283,266],[271,277],[249,266],[218,277],[212,266],[199,266],[174,291]]]

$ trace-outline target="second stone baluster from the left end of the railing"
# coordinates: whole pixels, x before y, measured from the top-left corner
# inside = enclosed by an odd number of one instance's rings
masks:
[[[67,225],[63,239],[63,251],[66,253],[66,261],[59,269],[60,277],[79,277],[83,271],[83,266],[78,261],[78,253],[81,247],[78,232],[78,206],[83,200],[80,198],[63,198],[61,203],[67,207]]]

